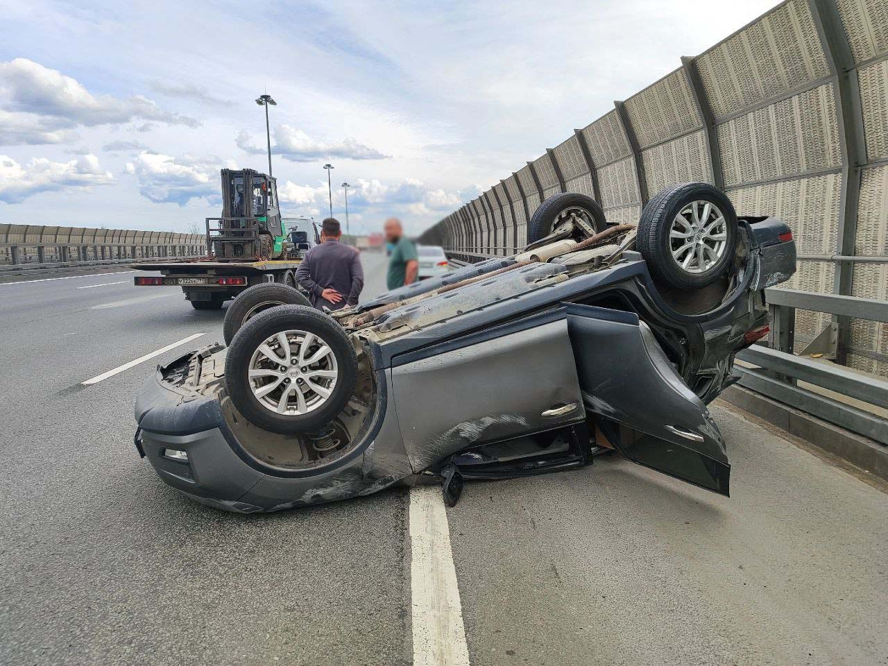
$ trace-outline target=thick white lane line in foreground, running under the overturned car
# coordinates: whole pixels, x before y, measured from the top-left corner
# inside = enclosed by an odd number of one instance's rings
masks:
[[[410,597],[415,666],[469,666],[440,486],[410,488]]]

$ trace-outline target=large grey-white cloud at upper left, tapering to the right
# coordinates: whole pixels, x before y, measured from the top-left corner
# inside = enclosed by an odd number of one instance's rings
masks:
[[[0,143],[52,144],[74,140],[75,127],[135,120],[197,127],[186,115],[164,111],[141,95],[93,95],[56,69],[17,58],[0,63]]]

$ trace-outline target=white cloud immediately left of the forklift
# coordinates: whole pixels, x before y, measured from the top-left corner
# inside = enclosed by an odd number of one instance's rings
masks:
[[[136,177],[139,193],[148,200],[184,206],[192,199],[219,200],[218,174],[223,166],[227,165],[214,157],[141,153],[126,163],[126,172]]]

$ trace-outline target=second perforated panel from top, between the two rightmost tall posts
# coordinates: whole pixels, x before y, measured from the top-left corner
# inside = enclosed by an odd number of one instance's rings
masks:
[[[832,83],[718,125],[725,186],[842,164]]]

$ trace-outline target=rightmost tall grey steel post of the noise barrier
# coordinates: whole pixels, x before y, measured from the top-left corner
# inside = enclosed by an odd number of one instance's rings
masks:
[[[839,147],[842,151],[842,188],[838,202],[838,233],[836,254],[854,254],[857,240],[857,205],[860,196],[860,169],[867,163],[867,147],[863,133],[863,111],[860,108],[860,83],[857,68],[844,32],[838,7],[833,0],[808,0],[814,24],[820,36],[823,53],[833,73]],[[836,263],[833,291],[849,296],[852,293],[854,265]],[[845,364],[848,356],[851,320],[834,317],[836,323],[836,362]]]

